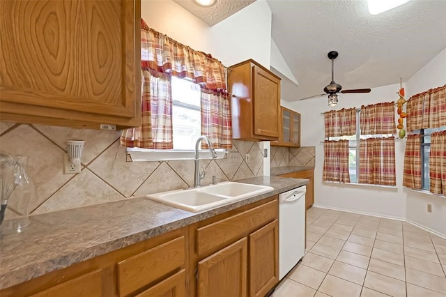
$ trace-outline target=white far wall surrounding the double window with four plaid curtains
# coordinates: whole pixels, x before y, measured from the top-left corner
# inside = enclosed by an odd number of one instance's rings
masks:
[[[373,89],[368,94],[340,94],[335,109],[357,107],[377,102],[398,100],[399,84]],[[406,195],[403,192],[402,167],[404,142],[395,143],[397,188],[381,188],[367,185],[333,185],[323,183],[323,140],[324,121],[321,112],[331,110],[324,96],[310,100],[292,102],[293,109],[302,115],[302,146],[316,146],[316,167],[314,172],[315,204],[360,213],[369,213],[393,218],[406,217]]]

